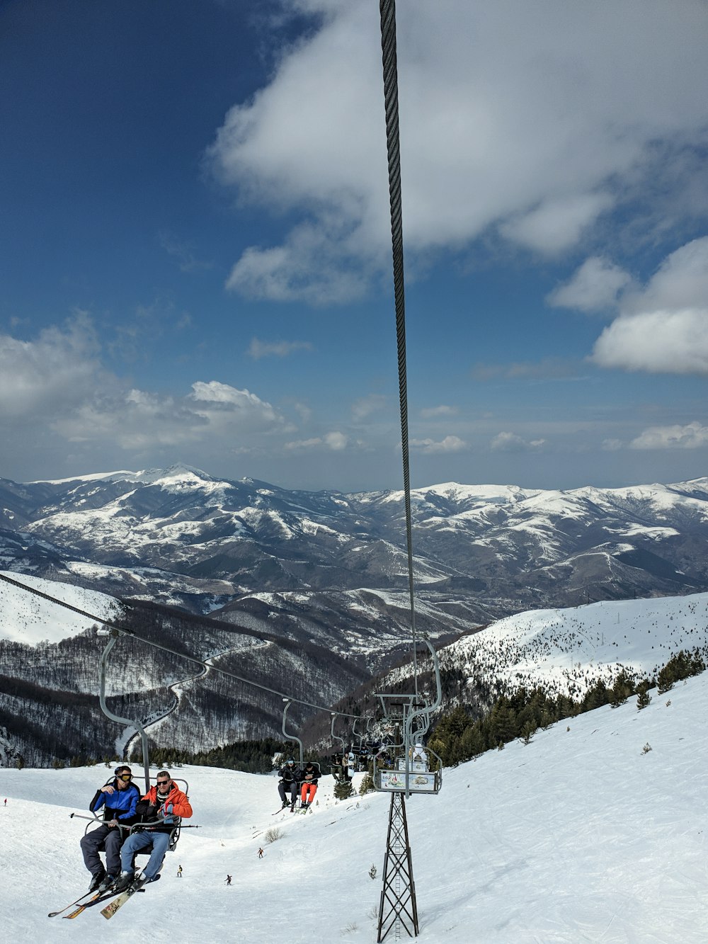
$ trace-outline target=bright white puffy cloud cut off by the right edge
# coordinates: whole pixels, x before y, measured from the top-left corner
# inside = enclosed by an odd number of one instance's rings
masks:
[[[708,237],[672,252],[644,289],[623,298],[591,360],[624,370],[708,374]]]

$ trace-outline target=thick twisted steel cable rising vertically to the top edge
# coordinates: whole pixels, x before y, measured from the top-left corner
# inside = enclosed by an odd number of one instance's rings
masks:
[[[406,379],[406,302],[403,278],[403,215],[401,211],[400,142],[398,134],[398,77],[396,65],[396,2],[379,0],[381,20],[381,60],[383,97],[386,113],[386,150],[388,154],[388,190],[391,205],[391,243],[394,261],[394,297],[396,301],[396,340],[398,348],[398,396],[400,400],[401,449],[403,454],[403,492],[406,508],[406,545],[408,548],[408,586],[411,597],[411,632],[413,637],[413,682],[418,695],[418,666],[415,652],[415,602],[413,592],[413,527],[411,514],[411,476],[408,447],[408,385]]]

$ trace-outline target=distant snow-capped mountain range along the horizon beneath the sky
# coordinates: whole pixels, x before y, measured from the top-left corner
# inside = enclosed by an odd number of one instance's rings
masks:
[[[708,479],[571,491],[448,482],[413,490],[412,507],[418,595],[449,632],[708,590]],[[220,618],[265,604],[293,619],[312,600],[347,619],[362,603],[346,595],[362,588],[406,606],[401,492],[289,491],[180,465],[0,480],[0,524],[7,569]]]

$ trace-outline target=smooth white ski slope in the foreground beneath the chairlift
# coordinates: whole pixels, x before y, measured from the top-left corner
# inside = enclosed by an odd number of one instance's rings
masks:
[[[708,775],[708,673],[650,694],[643,711],[634,700],[607,705],[537,732],[529,745],[449,769],[439,796],[407,802],[420,944],[703,944],[706,840],[697,814]],[[69,814],[85,810],[106,773],[2,771],[8,940],[106,936],[95,908],[66,924],[46,917],[87,885],[83,824]],[[119,922],[111,936],[273,944],[286,914],[292,944],[376,940],[386,795],[335,804],[325,777],[311,814],[280,818],[271,816],[274,778],[209,767],[174,773],[190,784],[200,829],[182,834],[160,882],[111,919]],[[264,842],[274,825],[281,837]],[[307,881],[294,868],[303,861]]]

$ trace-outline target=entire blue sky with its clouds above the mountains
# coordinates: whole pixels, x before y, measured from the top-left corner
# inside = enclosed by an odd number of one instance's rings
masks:
[[[708,8],[397,5],[413,486],[708,471]],[[0,476],[401,484],[375,0],[0,4]]]

